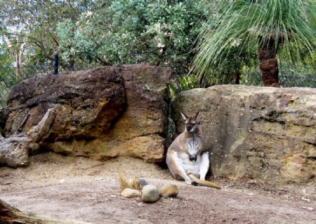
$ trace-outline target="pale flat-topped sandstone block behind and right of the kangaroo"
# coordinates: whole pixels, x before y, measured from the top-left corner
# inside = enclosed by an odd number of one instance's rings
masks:
[[[315,183],[316,90],[219,85],[179,94],[171,116],[196,113],[211,172],[273,185]]]

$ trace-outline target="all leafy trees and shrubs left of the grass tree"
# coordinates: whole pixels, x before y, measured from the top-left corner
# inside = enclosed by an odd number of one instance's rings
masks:
[[[49,64],[55,50],[67,69],[148,62],[187,73],[205,1],[0,2],[1,34],[25,63]]]

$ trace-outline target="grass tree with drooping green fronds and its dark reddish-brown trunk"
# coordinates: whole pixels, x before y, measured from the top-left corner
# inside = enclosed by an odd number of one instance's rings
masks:
[[[199,78],[236,53],[256,50],[263,85],[279,87],[277,57],[299,62],[316,45],[315,0],[211,1],[209,29],[199,36],[193,71]]]

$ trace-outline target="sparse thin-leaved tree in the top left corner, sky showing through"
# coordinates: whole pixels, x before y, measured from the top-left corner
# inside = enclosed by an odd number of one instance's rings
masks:
[[[56,25],[70,18],[76,21],[94,1],[0,1],[0,35],[11,41],[11,55],[25,44],[25,64],[53,64],[58,50]],[[62,62],[61,62],[62,64]],[[64,64],[67,66],[67,64]]]

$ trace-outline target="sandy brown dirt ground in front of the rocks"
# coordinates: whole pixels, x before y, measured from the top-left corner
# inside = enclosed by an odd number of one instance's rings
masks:
[[[272,187],[213,179],[222,190],[188,186],[141,160],[106,162],[35,155],[29,167],[0,168],[0,199],[22,211],[87,223],[316,223],[315,186]],[[117,174],[179,186],[176,198],[154,204],[119,195]],[[312,210],[313,209],[313,210]]]

